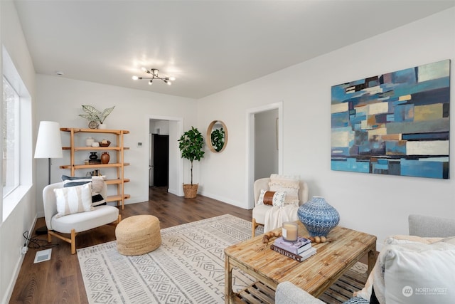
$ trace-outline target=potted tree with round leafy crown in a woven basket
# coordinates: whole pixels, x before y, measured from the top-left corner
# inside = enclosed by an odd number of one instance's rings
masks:
[[[204,157],[204,138],[196,127],[191,127],[191,130],[183,133],[178,142],[182,158],[191,162],[191,184],[183,184],[183,193],[185,198],[192,199],[198,194],[199,187],[199,184],[193,184],[193,161],[200,161]]]

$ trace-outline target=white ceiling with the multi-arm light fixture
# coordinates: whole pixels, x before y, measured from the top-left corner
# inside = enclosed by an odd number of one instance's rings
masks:
[[[455,0],[15,2],[36,73],[61,71],[65,78],[189,98],[455,6]],[[171,86],[132,80],[145,76],[142,65],[176,80]]]

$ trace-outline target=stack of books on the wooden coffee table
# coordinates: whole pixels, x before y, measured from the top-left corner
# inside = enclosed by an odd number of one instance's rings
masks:
[[[270,245],[270,249],[299,262],[306,260],[316,253],[316,248],[311,247],[311,241],[301,236],[298,236],[295,242],[284,241],[283,237],[280,236]]]

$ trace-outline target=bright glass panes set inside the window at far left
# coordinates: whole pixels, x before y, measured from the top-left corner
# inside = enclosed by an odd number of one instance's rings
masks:
[[[19,186],[19,95],[11,87],[8,80],[3,78],[3,103],[2,103],[2,148],[3,148],[3,197],[10,194]]]

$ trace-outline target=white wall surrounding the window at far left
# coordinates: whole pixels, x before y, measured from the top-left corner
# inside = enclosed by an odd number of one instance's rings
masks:
[[[0,43],[8,51],[11,61],[13,61],[28,93],[31,95],[33,110],[35,107],[35,70],[14,3],[12,1],[0,1],[0,14]],[[35,125],[34,120],[33,125]],[[33,133],[33,139],[34,142],[36,130]],[[28,152],[32,154],[31,151]],[[3,158],[1,150],[0,158]],[[28,169],[34,177],[34,166],[32,165]],[[1,202],[3,203],[3,199]],[[31,231],[35,220],[36,197],[35,189],[32,187],[18,202],[16,208],[11,211],[8,218],[3,223],[0,221],[0,303],[8,302],[12,288],[14,288],[23,261],[23,256],[19,251],[25,241],[22,234],[24,231]]]

